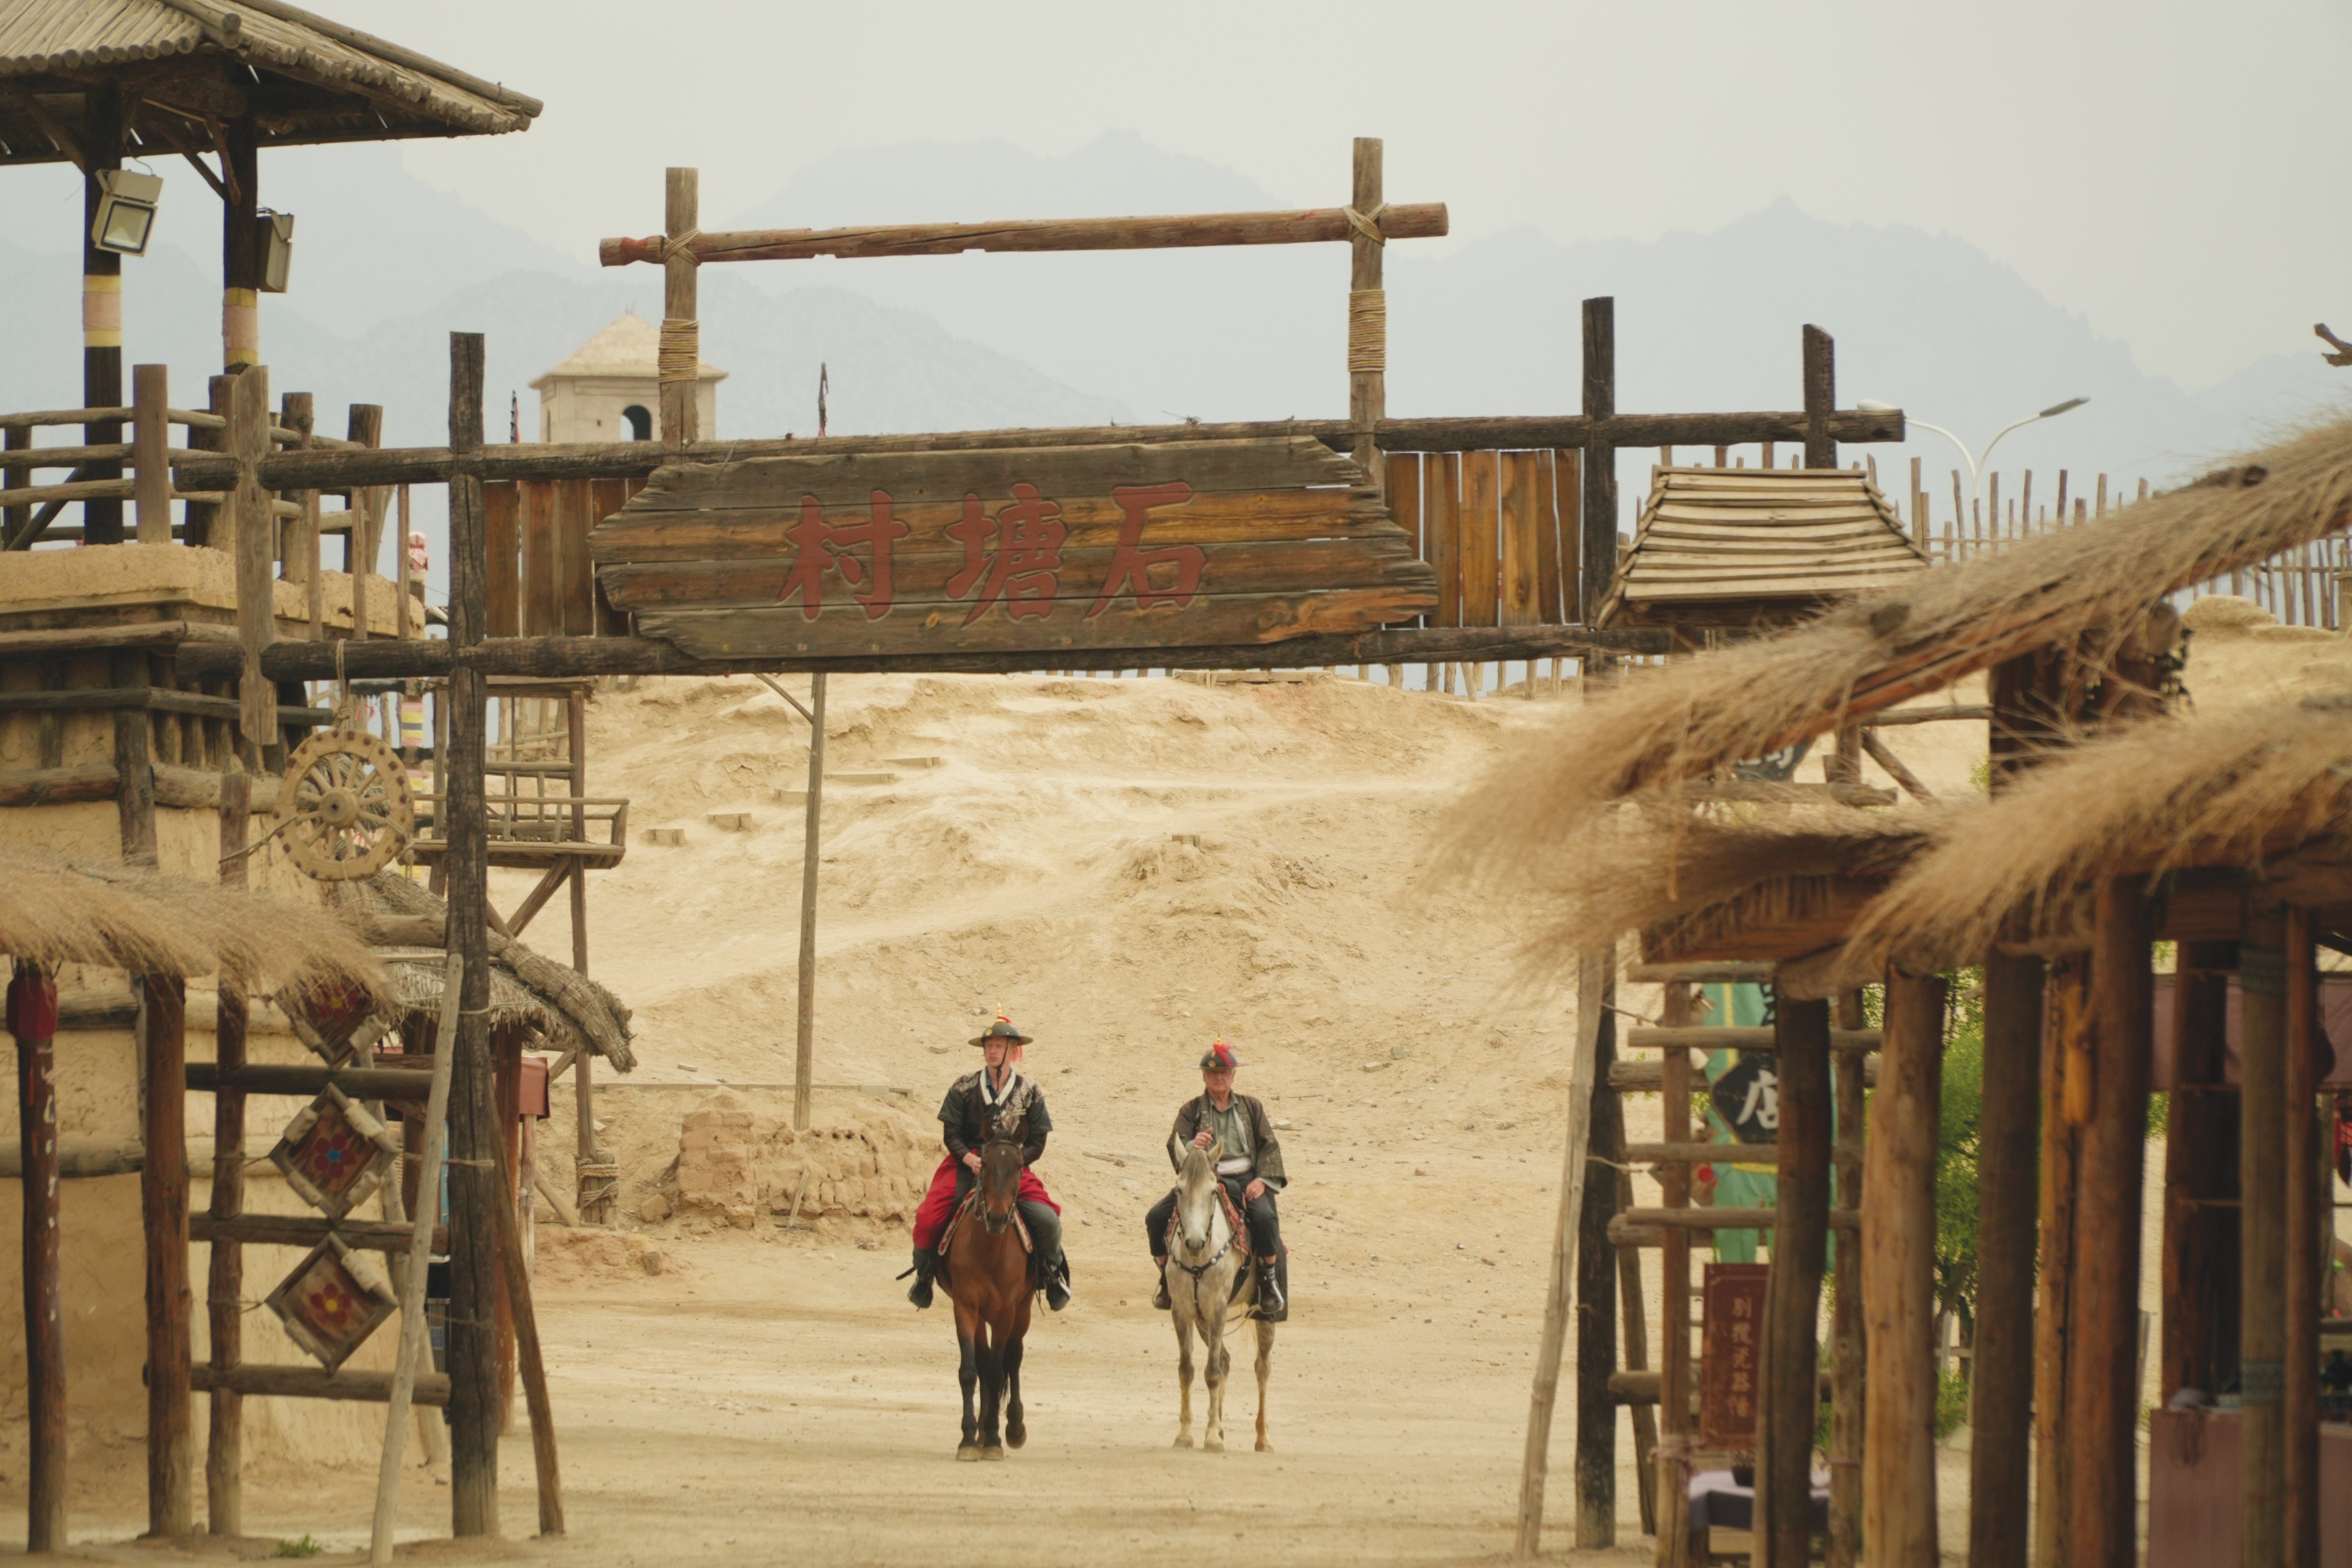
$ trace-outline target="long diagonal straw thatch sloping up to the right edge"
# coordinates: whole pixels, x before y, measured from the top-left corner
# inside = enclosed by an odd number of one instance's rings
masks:
[[[2352,418],[2107,517],[1858,595],[1628,682],[1494,771],[1456,853],[1517,860],[1599,806],[1823,736],[2004,658],[2124,628],[2190,583],[2352,522]],[[1494,835],[1494,823],[1512,823]]]

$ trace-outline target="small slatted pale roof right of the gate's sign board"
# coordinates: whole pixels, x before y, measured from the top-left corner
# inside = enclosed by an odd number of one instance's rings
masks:
[[[1658,468],[1599,623],[1785,623],[1924,569],[1856,468]]]

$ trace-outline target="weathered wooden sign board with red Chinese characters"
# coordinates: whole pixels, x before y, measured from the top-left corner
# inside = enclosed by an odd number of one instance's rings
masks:
[[[1362,482],[1312,437],[673,463],[588,548],[696,658],[1258,644],[1437,609]]]

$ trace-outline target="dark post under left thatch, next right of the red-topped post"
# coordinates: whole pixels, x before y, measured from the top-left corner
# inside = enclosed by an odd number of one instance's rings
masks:
[[[141,976],[146,1114],[139,1208],[146,1215],[148,1535],[195,1535],[195,1434],[188,1427],[188,985]]]

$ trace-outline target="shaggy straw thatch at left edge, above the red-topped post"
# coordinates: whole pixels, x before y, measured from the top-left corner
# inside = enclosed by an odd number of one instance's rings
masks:
[[[0,849],[0,952],[151,976],[228,973],[280,997],[329,983],[386,994],[383,966],[325,910],[24,849]]]

